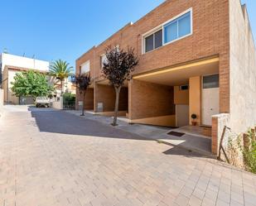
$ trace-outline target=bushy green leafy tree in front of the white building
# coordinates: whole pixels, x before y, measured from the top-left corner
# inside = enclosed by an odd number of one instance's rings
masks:
[[[34,100],[36,97],[48,96],[53,91],[47,82],[46,75],[33,70],[17,73],[11,84],[12,92],[17,97],[31,96]]]

